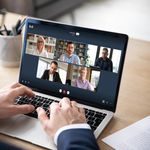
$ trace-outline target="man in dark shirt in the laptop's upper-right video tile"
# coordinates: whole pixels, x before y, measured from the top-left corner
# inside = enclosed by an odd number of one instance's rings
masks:
[[[95,66],[99,67],[101,70],[112,72],[113,63],[107,56],[108,56],[108,49],[103,48],[102,56],[96,60]]]

